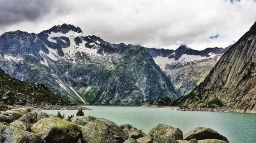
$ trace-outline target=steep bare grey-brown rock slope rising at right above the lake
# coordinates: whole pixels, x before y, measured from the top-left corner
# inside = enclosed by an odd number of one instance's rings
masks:
[[[225,106],[256,113],[256,22],[219,60],[181,106]]]

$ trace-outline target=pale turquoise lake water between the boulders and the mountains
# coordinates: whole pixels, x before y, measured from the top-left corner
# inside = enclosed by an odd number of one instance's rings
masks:
[[[256,114],[175,111],[168,108],[127,106],[86,106],[85,115],[105,118],[116,124],[131,124],[145,133],[157,124],[178,127],[186,133],[198,126],[210,127],[230,142],[256,142]],[[47,110],[46,113],[72,115],[77,110]]]

